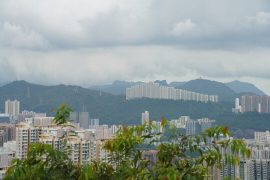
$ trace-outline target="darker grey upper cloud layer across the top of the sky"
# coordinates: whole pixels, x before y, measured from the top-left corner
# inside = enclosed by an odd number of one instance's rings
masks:
[[[253,48],[255,41],[256,46],[269,47],[265,39],[270,27],[261,33],[252,25],[267,24],[269,11],[267,0],[1,0],[1,34],[11,36],[3,26],[16,34],[1,45],[76,49],[165,44],[234,49]],[[247,16],[254,17],[251,24],[245,22]]]

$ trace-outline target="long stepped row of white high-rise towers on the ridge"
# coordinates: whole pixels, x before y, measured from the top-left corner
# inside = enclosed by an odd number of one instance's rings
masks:
[[[126,88],[126,99],[133,98],[183,99],[207,102],[207,94],[200,94],[182,89],[175,89],[154,83],[153,81],[137,84]],[[210,95],[210,101],[217,102],[217,95]]]

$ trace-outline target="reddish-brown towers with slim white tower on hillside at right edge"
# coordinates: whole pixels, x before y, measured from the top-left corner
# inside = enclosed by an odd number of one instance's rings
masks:
[[[232,112],[244,113],[246,111],[256,110],[260,113],[270,113],[270,97],[268,95],[262,95],[259,97],[257,95],[242,95],[241,105],[239,105],[239,98],[235,98],[235,108],[232,108]]]

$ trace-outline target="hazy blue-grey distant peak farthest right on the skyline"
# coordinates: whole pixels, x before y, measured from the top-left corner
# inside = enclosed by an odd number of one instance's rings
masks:
[[[254,84],[248,83],[248,82],[241,82],[239,80],[233,80],[231,82],[224,83],[227,86],[229,86],[234,92],[253,92],[258,95],[265,95],[263,91],[258,89]]]

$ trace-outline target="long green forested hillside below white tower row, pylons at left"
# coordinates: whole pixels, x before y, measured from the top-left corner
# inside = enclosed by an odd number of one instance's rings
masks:
[[[27,98],[29,87],[29,98]],[[49,113],[52,107],[66,102],[75,111],[86,106],[91,117],[100,119],[100,123],[137,124],[141,121],[141,112],[148,110],[153,120],[160,119],[160,114],[166,118],[178,118],[189,115],[191,118],[215,117],[223,111],[230,111],[233,102],[196,102],[193,100],[171,99],[132,99],[126,100],[125,95],[113,95],[98,90],[90,90],[71,85],[44,86],[26,81],[13,81],[0,87],[0,110],[4,110],[4,100],[17,99],[21,110],[33,110]],[[40,103],[42,98],[42,104]],[[49,115],[49,114],[48,114]],[[53,115],[53,114],[51,114]]]

